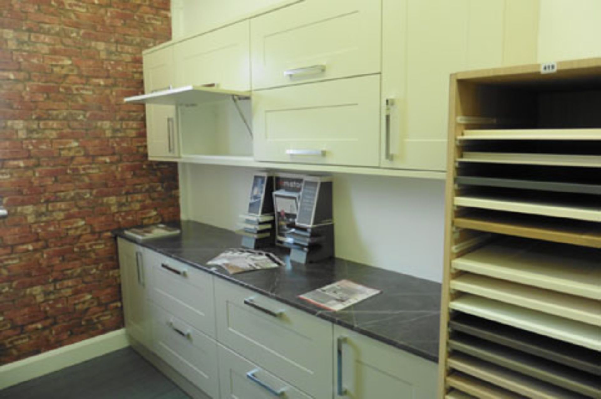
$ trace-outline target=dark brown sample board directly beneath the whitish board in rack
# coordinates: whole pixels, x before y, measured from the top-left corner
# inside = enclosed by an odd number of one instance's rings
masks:
[[[594,350],[469,314],[457,314],[449,322],[449,326],[454,331],[577,368],[601,378],[601,355]]]

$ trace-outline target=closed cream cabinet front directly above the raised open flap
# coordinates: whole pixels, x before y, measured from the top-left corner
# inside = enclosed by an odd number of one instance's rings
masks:
[[[175,85],[251,90],[249,25],[242,21],[175,44]]]

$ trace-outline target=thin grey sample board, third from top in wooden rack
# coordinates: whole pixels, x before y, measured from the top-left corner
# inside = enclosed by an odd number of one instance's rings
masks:
[[[455,181],[457,184],[465,184],[466,186],[503,187],[508,189],[601,195],[601,185],[599,184],[580,184],[563,181],[522,180],[516,178],[495,178],[481,176],[458,176]]]

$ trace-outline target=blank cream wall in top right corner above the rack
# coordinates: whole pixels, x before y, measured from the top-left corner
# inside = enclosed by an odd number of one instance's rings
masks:
[[[541,0],[538,61],[601,56],[601,0]]]

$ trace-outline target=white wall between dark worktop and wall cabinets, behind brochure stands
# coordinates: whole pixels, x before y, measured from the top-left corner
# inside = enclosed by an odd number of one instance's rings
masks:
[[[180,165],[182,219],[235,230],[252,169]],[[444,181],[334,176],[336,255],[441,281]]]

